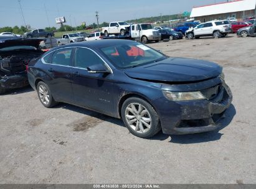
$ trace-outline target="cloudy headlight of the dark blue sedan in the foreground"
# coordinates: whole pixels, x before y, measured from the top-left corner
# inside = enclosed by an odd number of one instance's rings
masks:
[[[200,91],[194,92],[171,92],[163,91],[164,96],[171,101],[189,101],[194,99],[206,99]]]

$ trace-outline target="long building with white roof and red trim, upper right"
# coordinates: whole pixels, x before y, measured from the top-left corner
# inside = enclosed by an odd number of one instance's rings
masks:
[[[193,7],[190,17],[201,22],[212,21],[214,19],[227,19],[227,17],[236,17],[239,20],[243,20],[246,17],[255,16],[255,7],[256,0],[221,2],[218,4]]]

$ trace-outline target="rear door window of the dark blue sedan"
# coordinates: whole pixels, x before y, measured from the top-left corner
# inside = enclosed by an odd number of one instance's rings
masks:
[[[70,66],[71,65],[72,48],[64,48],[56,50],[52,55],[52,64]]]

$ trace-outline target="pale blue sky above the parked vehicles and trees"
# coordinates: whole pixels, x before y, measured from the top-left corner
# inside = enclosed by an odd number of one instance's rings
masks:
[[[26,24],[32,28],[55,26],[55,17],[65,16],[67,24],[75,26],[82,22],[126,21],[141,17],[176,14],[189,11],[193,6],[214,4],[224,0],[21,0]],[[47,19],[47,15],[49,21]],[[0,27],[24,25],[18,0],[1,1]]]

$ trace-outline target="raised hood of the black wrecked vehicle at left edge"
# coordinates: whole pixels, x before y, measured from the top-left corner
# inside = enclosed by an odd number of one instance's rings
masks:
[[[12,46],[32,46],[39,48],[40,42],[44,39],[24,39],[21,37],[0,39],[0,49]]]

